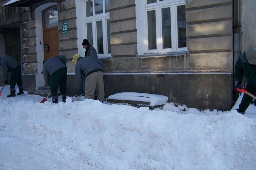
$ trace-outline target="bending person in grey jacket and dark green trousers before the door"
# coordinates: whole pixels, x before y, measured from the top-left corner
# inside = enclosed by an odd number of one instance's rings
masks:
[[[43,74],[46,85],[50,85],[52,103],[58,103],[57,90],[60,85],[62,101],[66,102],[67,58],[59,55],[43,61]]]

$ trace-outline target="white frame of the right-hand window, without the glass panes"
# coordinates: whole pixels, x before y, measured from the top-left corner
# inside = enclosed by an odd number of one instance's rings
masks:
[[[157,0],[156,3],[147,4],[147,0],[135,0],[136,7],[136,24],[138,40],[138,55],[154,54],[154,53],[170,53],[188,51],[187,47],[178,48],[178,20],[177,20],[177,6],[185,5],[185,0]],[[169,8],[171,11],[171,35],[172,48],[163,49],[163,32],[162,32],[162,12],[163,8]],[[142,10],[144,9],[144,10]],[[156,11],[156,49],[148,49],[148,11]],[[144,22],[140,22],[144,20]],[[161,27],[157,27],[157,26]],[[143,36],[143,37],[142,37]],[[140,49],[143,49],[140,50]]]

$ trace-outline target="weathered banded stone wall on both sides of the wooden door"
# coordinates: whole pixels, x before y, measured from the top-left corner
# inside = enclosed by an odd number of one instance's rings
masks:
[[[38,7],[45,5],[45,4],[52,4],[52,3],[58,3],[57,0],[47,0],[43,1],[41,3],[37,3],[35,5],[32,5],[30,7],[23,7],[21,8],[21,28],[22,28],[22,52],[23,52],[23,61],[24,61],[24,72],[23,72],[23,79],[25,82],[24,89],[25,90],[35,90],[38,87],[42,86],[38,85],[39,82],[41,82],[42,78],[42,44],[39,42],[43,42],[43,40],[37,42],[36,38],[42,37],[42,35],[38,36],[36,34],[43,34],[37,27],[40,27],[40,24],[36,23],[42,22],[42,20],[39,19],[36,20],[35,18],[35,10],[38,9]],[[49,6],[49,5],[48,5]],[[60,47],[60,54],[66,55],[68,58],[67,66],[69,69],[71,69],[73,64],[71,65],[71,60],[73,57],[73,53],[76,53],[77,51],[77,35],[76,35],[76,12],[75,12],[75,0],[66,0],[61,1],[61,3],[57,4],[58,6],[58,29],[59,29],[59,47]],[[41,8],[40,8],[41,9]],[[43,9],[41,9],[43,10]],[[37,18],[38,19],[38,18]],[[68,22],[68,33],[62,34],[62,22]],[[42,26],[42,25],[41,25]],[[40,56],[40,57],[39,57]],[[39,62],[39,63],[38,63]],[[40,65],[41,64],[41,65]],[[38,70],[39,69],[39,70]],[[40,81],[38,80],[38,77],[36,76],[40,74]],[[27,81],[26,81],[27,80]]]

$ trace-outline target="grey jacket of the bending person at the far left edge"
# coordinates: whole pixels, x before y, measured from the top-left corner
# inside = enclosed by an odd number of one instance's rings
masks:
[[[19,65],[19,62],[11,56],[0,57],[0,66],[3,68],[4,80],[8,80],[9,72],[15,69]]]

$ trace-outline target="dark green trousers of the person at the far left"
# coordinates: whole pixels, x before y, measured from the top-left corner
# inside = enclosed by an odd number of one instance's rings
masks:
[[[22,89],[22,81],[21,81],[21,66],[18,65],[16,68],[12,69],[12,74],[10,78],[10,90],[15,91],[15,86],[17,83],[17,86],[19,89]]]

